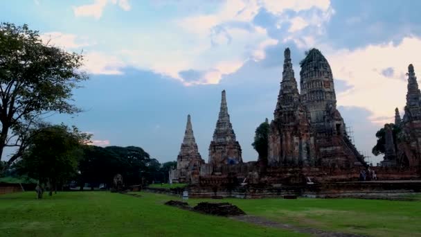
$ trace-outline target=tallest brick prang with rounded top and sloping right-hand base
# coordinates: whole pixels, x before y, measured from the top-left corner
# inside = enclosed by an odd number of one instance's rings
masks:
[[[310,113],[315,137],[316,163],[330,168],[366,166],[346,134],[337,109],[332,69],[318,49],[311,49],[301,61],[301,103]]]

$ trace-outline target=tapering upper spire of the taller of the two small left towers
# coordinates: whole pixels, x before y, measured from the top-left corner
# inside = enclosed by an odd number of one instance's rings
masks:
[[[228,107],[226,106],[225,90],[222,91],[220,114],[216,123],[215,132],[213,133],[213,141],[225,142],[235,141],[233,125],[229,120]]]

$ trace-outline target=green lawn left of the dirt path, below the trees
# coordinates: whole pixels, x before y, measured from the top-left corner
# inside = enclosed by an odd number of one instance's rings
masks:
[[[140,194],[0,195],[0,236],[304,236],[163,204],[176,197]]]

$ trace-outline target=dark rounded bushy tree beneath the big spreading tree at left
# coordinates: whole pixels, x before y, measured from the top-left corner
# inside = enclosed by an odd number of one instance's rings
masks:
[[[50,195],[57,184],[68,181],[75,174],[82,156],[82,144],[90,135],[79,132],[78,128],[66,125],[46,125],[33,135],[31,143],[18,169],[28,177],[37,179],[40,186],[48,184]]]

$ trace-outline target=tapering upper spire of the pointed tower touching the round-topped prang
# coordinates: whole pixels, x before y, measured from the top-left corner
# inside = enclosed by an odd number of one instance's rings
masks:
[[[284,69],[282,73],[282,82],[280,82],[278,102],[276,103],[275,119],[283,108],[294,107],[294,103],[297,102],[300,97],[297,82],[294,77],[294,69],[292,69],[291,51],[289,51],[289,48],[285,49],[284,57]]]

